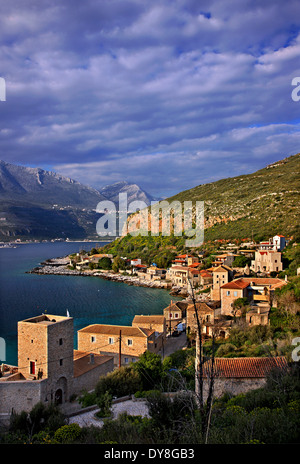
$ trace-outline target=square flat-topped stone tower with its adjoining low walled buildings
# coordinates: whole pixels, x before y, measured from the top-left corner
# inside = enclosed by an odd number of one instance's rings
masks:
[[[74,350],[73,340],[71,317],[42,314],[18,323],[18,366],[4,366],[0,378],[2,414],[68,402],[113,370],[111,356]]]

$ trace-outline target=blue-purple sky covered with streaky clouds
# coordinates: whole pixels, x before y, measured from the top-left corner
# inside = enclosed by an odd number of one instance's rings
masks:
[[[0,0],[0,10],[4,161],[164,197],[300,151],[299,0]]]

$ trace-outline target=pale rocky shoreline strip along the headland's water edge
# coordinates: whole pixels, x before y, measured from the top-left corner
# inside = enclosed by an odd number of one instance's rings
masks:
[[[171,282],[166,281],[148,281],[139,279],[135,276],[128,276],[123,274],[116,274],[110,271],[99,271],[97,270],[76,270],[68,269],[67,263],[69,261],[66,258],[49,259],[40,264],[40,266],[27,271],[28,274],[40,274],[40,275],[69,275],[69,276],[81,276],[81,277],[100,277],[106,280],[112,280],[114,282],[123,282],[127,285],[135,285],[138,287],[148,288],[159,288],[163,290],[169,290],[172,295],[184,296],[180,294],[180,291],[172,288]]]

